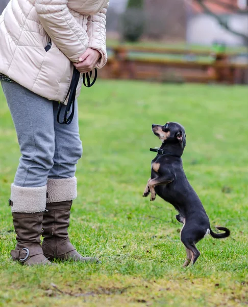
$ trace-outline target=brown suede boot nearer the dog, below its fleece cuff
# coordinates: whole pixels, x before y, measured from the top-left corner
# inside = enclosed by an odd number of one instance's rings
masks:
[[[43,213],[44,237],[41,245],[48,259],[72,259],[74,261],[101,262],[95,257],[83,257],[70,243],[67,228],[69,227],[72,201],[47,203]]]

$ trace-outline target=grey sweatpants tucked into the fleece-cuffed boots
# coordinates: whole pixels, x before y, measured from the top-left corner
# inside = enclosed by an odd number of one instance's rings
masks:
[[[61,125],[57,122],[58,102],[16,82],[1,83],[21,151],[14,186],[37,188],[46,186],[47,179],[75,178],[76,164],[82,156],[77,102],[71,124]]]

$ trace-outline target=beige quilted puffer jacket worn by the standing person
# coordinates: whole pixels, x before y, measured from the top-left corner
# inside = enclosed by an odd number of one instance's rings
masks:
[[[109,0],[11,0],[0,16],[0,72],[30,91],[63,102],[73,65],[87,48],[107,61]],[[52,40],[52,48],[44,47]],[[77,97],[82,82],[79,82]]]

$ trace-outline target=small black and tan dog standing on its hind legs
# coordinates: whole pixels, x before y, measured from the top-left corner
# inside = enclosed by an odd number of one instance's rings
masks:
[[[214,233],[210,228],[209,218],[202,202],[189,184],[183,170],[181,156],[186,145],[185,129],[176,122],[167,122],[164,126],[152,125],[153,133],[162,141],[157,156],[152,160],[151,178],[148,180],[143,196],[151,193],[151,201],[158,194],[179,212],[177,220],[183,223],[181,240],[186,248],[187,259],[184,267],[193,265],[200,256],[195,244],[205,235],[214,238],[226,238],[229,229],[217,227],[225,233]]]

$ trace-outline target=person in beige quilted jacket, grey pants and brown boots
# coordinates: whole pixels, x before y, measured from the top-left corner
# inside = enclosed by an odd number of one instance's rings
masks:
[[[11,0],[0,16],[0,78],[21,151],[9,200],[11,255],[24,265],[98,261],[82,257],[67,233],[82,156],[77,101],[70,125],[56,117],[73,69],[86,73],[107,61],[107,7],[108,0]]]

